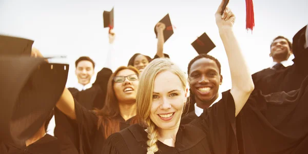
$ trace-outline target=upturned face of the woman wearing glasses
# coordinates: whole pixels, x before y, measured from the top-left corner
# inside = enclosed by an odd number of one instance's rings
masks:
[[[123,77],[124,81],[119,79]],[[136,95],[139,84],[138,75],[136,75],[136,72],[130,69],[121,70],[115,75],[114,81],[115,81],[113,82],[114,94],[120,103],[121,102],[130,103],[136,101]]]

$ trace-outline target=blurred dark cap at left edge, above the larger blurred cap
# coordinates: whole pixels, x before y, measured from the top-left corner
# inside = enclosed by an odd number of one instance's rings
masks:
[[[31,55],[34,41],[26,38],[0,35],[0,55]]]

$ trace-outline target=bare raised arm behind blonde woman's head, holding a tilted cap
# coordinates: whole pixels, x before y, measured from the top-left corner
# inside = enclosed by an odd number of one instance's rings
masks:
[[[163,23],[158,23],[156,25],[156,31],[157,31],[157,52],[156,55],[159,57],[164,57],[164,43],[165,43],[165,38],[164,38],[164,30],[166,28],[166,25]]]

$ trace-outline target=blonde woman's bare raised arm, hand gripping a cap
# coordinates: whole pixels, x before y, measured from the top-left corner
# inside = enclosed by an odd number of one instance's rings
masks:
[[[235,16],[228,7],[226,7],[223,15],[221,15],[224,1],[225,0],[221,2],[215,17],[219,34],[229,62],[232,81],[230,93],[234,98],[235,116],[237,116],[248,100],[249,95],[254,90],[254,83],[233,32],[232,27],[235,22]]]

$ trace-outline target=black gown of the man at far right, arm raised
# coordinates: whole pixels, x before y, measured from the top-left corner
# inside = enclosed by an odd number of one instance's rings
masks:
[[[281,71],[265,69],[253,74],[255,91],[261,90],[263,94],[270,94],[300,88],[302,81],[308,75],[308,48],[304,49],[305,29],[306,26],[293,37],[294,64]]]

